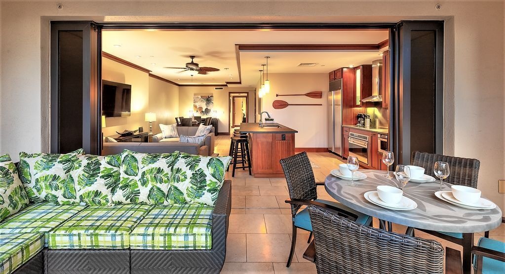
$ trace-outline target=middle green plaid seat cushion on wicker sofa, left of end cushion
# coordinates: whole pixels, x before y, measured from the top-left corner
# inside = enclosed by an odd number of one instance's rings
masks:
[[[52,249],[129,248],[130,232],[153,206],[89,206],[49,232]]]

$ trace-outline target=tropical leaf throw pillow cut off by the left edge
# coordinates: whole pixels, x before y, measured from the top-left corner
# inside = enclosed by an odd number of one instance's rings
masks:
[[[18,170],[9,154],[0,156],[0,221],[23,209],[29,203]]]

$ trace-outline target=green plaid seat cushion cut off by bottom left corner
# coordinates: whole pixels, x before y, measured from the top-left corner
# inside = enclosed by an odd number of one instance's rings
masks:
[[[42,233],[0,235],[0,274],[12,273],[44,248]]]

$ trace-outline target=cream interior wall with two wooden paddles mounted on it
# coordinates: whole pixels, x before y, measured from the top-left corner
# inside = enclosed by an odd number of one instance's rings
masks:
[[[269,73],[270,93],[262,98],[262,111],[268,112],[275,122],[295,129],[295,147],[328,147],[328,74],[326,73]],[[307,96],[280,96],[275,94],[305,94],[311,91],[322,91],[323,98]],[[322,105],[289,105],[286,108],[274,109],[272,102],[283,100],[288,103],[322,104]],[[265,118],[266,115],[263,115]]]

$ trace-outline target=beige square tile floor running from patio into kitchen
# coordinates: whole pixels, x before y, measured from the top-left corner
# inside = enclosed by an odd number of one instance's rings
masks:
[[[215,152],[228,155],[229,136],[216,137]],[[309,153],[309,158],[319,168],[314,169],[316,181],[324,181],[326,175],[342,161],[330,153]],[[222,273],[316,273],[315,264],[302,258],[307,248],[309,233],[298,230],[295,255],[286,268],[291,246],[291,213],[286,181],[284,178],[254,178],[247,171],[236,170],[226,174],[232,181],[232,209],[226,245],[226,259]],[[318,186],[318,198],[333,200],[324,187]],[[374,224],[377,224],[374,220]],[[405,227],[394,226],[394,231],[405,232]],[[475,242],[483,233],[475,234]],[[416,236],[435,239],[445,248],[461,251],[461,247],[416,231]],[[490,238],[505,241],[505,225],[490,232]]]

